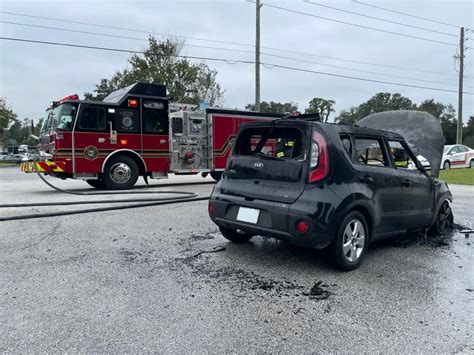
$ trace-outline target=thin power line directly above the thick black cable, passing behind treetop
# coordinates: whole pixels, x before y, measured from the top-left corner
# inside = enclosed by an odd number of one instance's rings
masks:
[[[122,39],[130,39],[130,40],[147,41],[144,38],[113,35],[113,34],[91,32],[91,31],[80,31],[80,30],[73,30],[73,29],[59,28],[59,27],[52,27],[52,26],[41,26],[41,25],[33,25],[33,24],[10,22],[10,21],[0,21],[0,23],[10,24],[10,25],[17,25],[17,26],[33,27],[33,28],[43,28],[43,29],[63,31],[63,32],[73,32],[73,33],[80,33],[80,34],[105,36],[105,37],[112,37],[112,38],[122,38]],[[186,47],[195,47],[195,48],[213,49],[213,50],[231,51],[231,52],[239,52],[239,53],[250,53],[250,54],[254,53],[253,51],[234,49],[234,48],[211,47],[211,46],[202,46],[202,45],[193,45],[193,44],[184,44],[184,46],[186,46]],[[448,86],[449,85],[457,85],[457,84],[449,84],[449,83],[444,83],[444,82],[439,82],[439,81],[432,81],[432,80],[426,80],[426,79],[416,79],[416,78],[406,77],[406,76],[401,76],[401,75],[386,74],[386,73],[374,72],[374,71],[369,71],[369,70],[344,67],[344,66],[333,65],[333,64],[319,63],[319,62],[314,62],[314,61],[309,61],[309,60],[304,60],[304,59],[299,59],[299,58],[291,58],[291,57],[286,57],[286,56],[280,56],[280,55],[277,55],[277,54],[271,54],[271,53],[265,53],[265,52],[262,52],[261,54],[269,56],[269,57],[274,57],[274,58],[287,59],[287,60],[292,60],[292,61],[302,62],[302,63],[311,63],[311,64],[316,64],[316,65],[323,65],[323,66],[327,66],[327,67],[343,69],[343,70],[352,70],[352,71],[367,73],[367,74],[383,75],[383,76],[388,76],[388,77],[393,77],[393,78],[423,81],[423,82],[427,82],[427,83],[442,84],[442,85],[448,85]]]

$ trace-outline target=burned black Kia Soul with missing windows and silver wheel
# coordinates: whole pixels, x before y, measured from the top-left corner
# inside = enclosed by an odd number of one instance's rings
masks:
[[[424,156],[439,143],[442,152],[438,133],[420,143]],[[372,241],[418,229],[443,233],[452,225],[447,184],[425,170],[407,143],[422,139],[304,119],[245,124],[209,215],[233,242],[262,235],[327,247],[339,268],[352,270]]]

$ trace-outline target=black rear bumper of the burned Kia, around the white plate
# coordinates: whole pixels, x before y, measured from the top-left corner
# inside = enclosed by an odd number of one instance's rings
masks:
[[[240,229],[244,232],[285,240],[295,245],[309,248],[324,248],[328,246],[333,236],[318,231],[318,224],[308,212],[298,210],[294,205],[277,202],[253,200],[246,201],[241,197],[227,195],[213,196],[209,200],[214,213],[211,219],[218,226]],[[257,223],[247,223],[237,220],[240,207],[258,209],[260,215]],[[307,233],[299,233],[296,224],[304,220],[309,224]]]

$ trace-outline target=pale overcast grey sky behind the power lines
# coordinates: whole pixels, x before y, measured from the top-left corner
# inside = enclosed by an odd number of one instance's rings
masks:
[[[457,108],[458,74],[453,60],[459,45],[459,28],[456,26],[474,29],[472,0],[359,0],[366,4],[455,26],[408,17],[351,0],[311,1],[366,16],[422,27],[428,31],[303,1],[262,0],[266,4],[261,8],[261,61],[265,63],[261,67],[262,101],[291,101],[297,103],[300,110],[304,110],[311,98],[323,97],[336,101],[337,114],[340,110],[359,105],[377,92],[398,92],[415,103],[433,98]],[[255,59],[253,54],[255,4],[250,1],[2,0],[0,12],[1,37],[125,50],[143,50],[147,44],[147,33],[155,33],[159,38],[163,35],[187,37],[181,54],[227,59],[227,62],[207,62],[209,67],[218,71],[217,80],[225,90],[224,107],[243,109],[247,103],[254,102],[255,65],[238,62]],[[70,20],[89,25],[11,13]],[[341,22],[444,43],[409,38]],[[24,26],[25,24],[56,29],[28,27]],[[97,33],[133,38],[107,37]],[[464,91],[472,93],[474,33],[468,31],[466,37],[470,37],[466,41],[466,46],[472,48],[468,48],[465,53]],[[237,42],[239,45],[227,42]],[[110,78],[115,71],[126,68],[130,55],[0,40],[0,96],[6,97],[19,118],[37,119],[43,116],[50,101],[74,93],[83,97],[84,92],[94,90],[100,79]],[[317,71],[319,74],[283,69],[274,65]],[[426,86],[453,92],[355,80],[321,73]],[[465,122],[469,115],[474,113],[473,94],[464,94],[463,111]]]

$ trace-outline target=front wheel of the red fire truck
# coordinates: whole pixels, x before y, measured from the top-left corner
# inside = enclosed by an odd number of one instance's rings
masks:
[[[105,165],[102,180],[109,190],[127,190],[138,180],[138,166],[132,158],[112,157]]]

